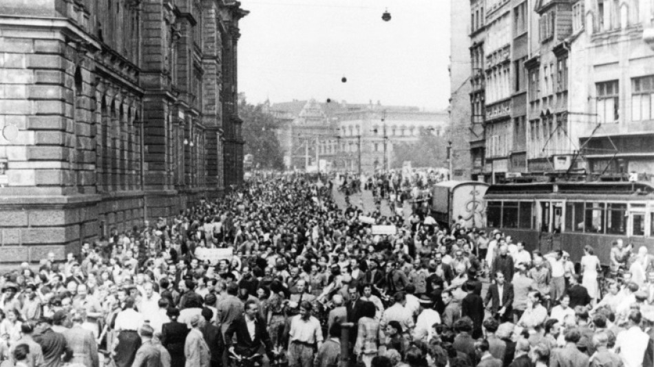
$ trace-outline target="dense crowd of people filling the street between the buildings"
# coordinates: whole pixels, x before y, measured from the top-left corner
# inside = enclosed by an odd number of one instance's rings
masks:
[[[21,367],[653,366],[646,249],[629,255],[614,244],[612,265],[627,271],[604,295],[591,247],[575,266],[564,251],[529,252],[461,218],[447,229],[428,214],[339,207],[331,187],[253,176],[171,220],[112,229],[63,262],[51,253],[38,269],[23,264],[0,277],[0,359]]]

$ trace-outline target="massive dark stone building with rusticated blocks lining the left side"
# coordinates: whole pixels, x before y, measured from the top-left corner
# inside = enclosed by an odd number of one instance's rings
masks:
[[[78,251],[242,180],[227,0],[0,2],[0,262]]]

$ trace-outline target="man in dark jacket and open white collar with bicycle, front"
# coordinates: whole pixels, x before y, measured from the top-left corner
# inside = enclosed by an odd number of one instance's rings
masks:
[[[236,345],[233,343],[233,335],[236,335]],[[250,359],[257,355],[262,344],[266,348],[268,359],[273,359],[273,343],[268,334],[266,322],[259,315],[259,305],[254,300],[249,300],[245,304],[244,315],[233,322],[225,332],[225,343],[227,350],[232,355],[237,355],[244,359]],[[262,356],[252,358],[251,362],[261,364]]]

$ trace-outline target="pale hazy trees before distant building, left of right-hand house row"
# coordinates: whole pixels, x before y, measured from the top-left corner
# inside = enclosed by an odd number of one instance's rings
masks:
[[[401,168],[407,160],[413,167],[445,167],[447,139],[421,129],[419,140],[393,145],[393,168]]]

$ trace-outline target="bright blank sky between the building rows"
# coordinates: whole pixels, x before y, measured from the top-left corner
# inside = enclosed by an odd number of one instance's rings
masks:
[[[447,108],[450,0],[241,3],[250,14],[239,24],[238,87],[249,103],[331,98]]]

